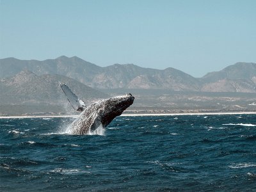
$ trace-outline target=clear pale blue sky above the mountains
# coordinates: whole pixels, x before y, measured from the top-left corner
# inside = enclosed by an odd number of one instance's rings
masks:
[[[0,58],[78,56],[194,77],[256,61],[256,1],[0,0]]]

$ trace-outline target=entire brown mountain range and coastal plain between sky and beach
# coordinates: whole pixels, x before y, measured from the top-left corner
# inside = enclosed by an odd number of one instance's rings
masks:
[[[77,57],[6,58],[0,60],[0,116],[74,114],[60,83],[86,104],[132,93],[132,113],[253,111],[256,64],[236,63],[195,78],[175,68],[99,67]]]

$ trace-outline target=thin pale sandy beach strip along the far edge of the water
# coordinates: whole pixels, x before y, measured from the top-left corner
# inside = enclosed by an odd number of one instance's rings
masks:
[[[224,113],[141,113],[122,114],[120,116],[181,116],[181,115],[256,115],[255,112],[224,112]],[[79,115],[28,115],[28,116],[0,116],[3,118],[77,118]]]

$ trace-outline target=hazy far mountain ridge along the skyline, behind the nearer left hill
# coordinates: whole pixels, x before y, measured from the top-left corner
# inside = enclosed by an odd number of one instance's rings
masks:
[[[133,64],[99,67],[76,56],[54,60],[0,60],[0,79],[30,70],[38,76],[58,74],[92,88],[168,89],[186,92],[256,92],[256,63],[236,63],[195,78],[175,68],[157,70]]]

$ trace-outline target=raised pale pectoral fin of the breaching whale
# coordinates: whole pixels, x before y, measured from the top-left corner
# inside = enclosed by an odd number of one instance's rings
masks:
[[[70,88],[68,88],[66,84],[61,83],[60,86],[65,95],[67,96],[67,99],[70,102],[72,108],[74,108],[76,111],[83,111],[86,108],[83,100],[79,99],[76,94],[73,93]]]

